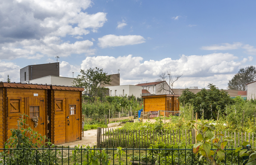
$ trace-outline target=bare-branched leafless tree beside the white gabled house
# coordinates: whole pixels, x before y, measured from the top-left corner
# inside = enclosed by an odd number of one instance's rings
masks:
[[[169,77],[170,75],[170,77]],[[167,81],[168,82],[168,78],[169,78],[169,81],[170,81],[170,87],[169,85],[167,85],[166,83],[161,83],[159,84],[159,88],[157,90],[157,92],[159,93],[167,93],[167,92],[170,92],[171,94],[174,94],[173,92],[173,84],[175,81],[177,81],[183,74],[176,74],[173,75],[171,74],[171,70],[167,70],[165,72],[162,72],[161,74],[157,75],[159,78],[156,80],[156,81]]]

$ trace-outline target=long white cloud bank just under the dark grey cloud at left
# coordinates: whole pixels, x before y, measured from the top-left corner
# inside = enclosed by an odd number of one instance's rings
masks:
[[[90,49],[93,42],[89,40],[76,41],[75,43],[62,42],[58,37],[45,37],[37,40],[23,40],[8,43],[0,49],[0,59],[40,59],[41,57],[61,55],[67,57],[71,54],[92,55],[95,49]],[[21,47],[21,48],[19,48]],[[40,53],[37,53],[40,52]],[[6,56],[8,54],[8,56]]]

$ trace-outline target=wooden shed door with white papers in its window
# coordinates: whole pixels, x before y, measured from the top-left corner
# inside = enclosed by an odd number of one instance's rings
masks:
[[[67,98],[67,143],[79,140],[79,98]]]

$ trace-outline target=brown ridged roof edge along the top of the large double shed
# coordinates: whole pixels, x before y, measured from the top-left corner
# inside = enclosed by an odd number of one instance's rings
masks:
[[[28,83],[15,83],[15,82],[2,82],[0,81],[0,87],[12,87],[12,88],[34,88],[34,89],[57,89],[57,90],[78,90],[84,91],[84,88],[77,86],[61,86],[61,85],[48,85],[48,84],[28,84]]]

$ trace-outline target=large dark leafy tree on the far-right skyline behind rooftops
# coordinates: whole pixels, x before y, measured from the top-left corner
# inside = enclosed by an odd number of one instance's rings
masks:
[[[227,84],[227,89],[233,90],[247,90],[245,84],[251,83],[256,80],[256,68],[254,66],[249,66],[246,68],[241,68],[235,76],[229,80]]]

